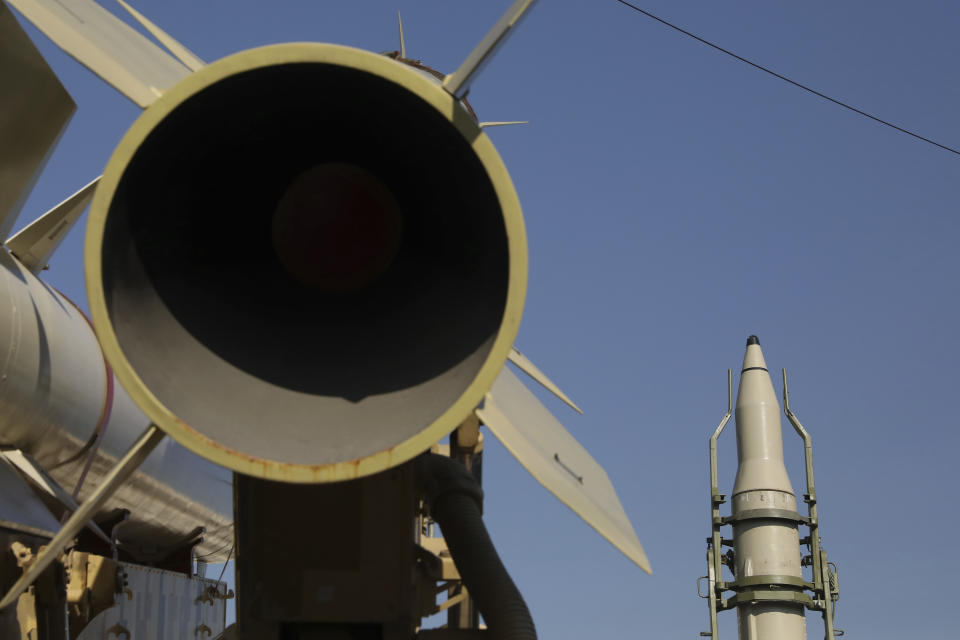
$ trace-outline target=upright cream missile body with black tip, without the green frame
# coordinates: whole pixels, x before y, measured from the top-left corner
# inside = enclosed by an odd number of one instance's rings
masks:
[[[732,499],[736,580],[743,582],[756,576],[800,578],[797,522],[769,517],[777,513],[769,510],[796,514],[797,500],[783,463],[780,405],[756,336],[747,341],[737,391],[736,424],[738,467]],[[766,518],[762,517],[765,513]],[[737,609],[737,621],[741,640],[806,638],[800,604],[745,604]]]

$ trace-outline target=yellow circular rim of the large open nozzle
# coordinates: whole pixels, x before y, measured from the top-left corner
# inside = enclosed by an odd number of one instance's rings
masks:
[[[111,315],[115,307],[108,307],[108,297],[112,294],[105,287],[104,280],[107,275],[104,272],[104,246],[108,214],[127,168],[148,137],[185,102],[221,81],[258,69],[298,64],[332,65],[371,74],[408,91],[446,119],[462,135],[489,178],[502,214],[509,261],[499,329],[492,338],[492,346],[483,364],[471,373],[472,380],[465,383],[456,400],[432,422],[423,424],[422,429],[392,446],[353,459],[325,460],[316,464],[270,459],[261,457],[257,451],[228,446],[221,439],[205,434],[202,426],[188,424],[161,402],[155,390],[143,381],[147,367],[141,362],[139,369],[134,368],[128,359],[129,353],[121,345]],[[401,126],[397,125],[398,130]],[[238,185],[237,188],[242,187]],[[450,215],[456,213],[451,211]],[[481,403],[503,368],[520,326],[527,285],[526,232],[517,194],[499,154],[477,122],[439,83],[407,65],[367,51],[331,44],[290,43],[243,51],[204,67],[166,91],[133,123],[111,156],[90,209],[85,274],[90,310],[104,354],[117,379],[157,426],[187,449],[239,473],[287,482],[332,482],[374,474],[411,459],[456,428]],[[137,320],[136,317],[123,317],[125,325]],[[149,341],[150,338],[141,340]],[[130,343],[124,344],[129,346]],[[323,363],[317,362],[317,366],[323,366]],[[318,420],[322,422],[322,416]],[[269,427],[265,425],[264,428]]]

